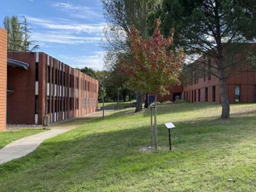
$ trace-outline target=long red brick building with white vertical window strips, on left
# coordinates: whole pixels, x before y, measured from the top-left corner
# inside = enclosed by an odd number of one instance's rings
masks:
[[[8,59],[7,123],[40,125],[46,114],[53,123],[97,111],[97,80],[43,52],[8,52]]]

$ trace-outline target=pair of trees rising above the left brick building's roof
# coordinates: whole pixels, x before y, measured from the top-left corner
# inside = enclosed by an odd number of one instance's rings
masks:
[[[26,17],[6,16],[3,22],[5,30],[7,30],[7,51],[10,52],[33,52],[40,48],[36,41],[31,40],[30,24]]]

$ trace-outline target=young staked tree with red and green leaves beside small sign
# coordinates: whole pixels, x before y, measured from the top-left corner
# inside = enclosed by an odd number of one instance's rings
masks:
[[[154,147],[157,149],[156,101],[157,93],[168,94],[168,87],[179,82],[185,54],[183,49],[175,52],[166,48],[173,43],[173,30],[169,38],[161,35],[160,21],[155,20],[152,38],[143,39],[135,27],[130,34],[131,59],[122,59],[122,71],[129,76],[133,89],[155,92]]]

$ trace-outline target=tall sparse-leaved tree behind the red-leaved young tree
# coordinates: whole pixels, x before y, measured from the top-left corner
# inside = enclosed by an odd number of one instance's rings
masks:
[[[107,50],[106,61],[108,68],[118,64],[119,57],[130,55],[131,26],[135,26],[143,38],[147,34],[147,14],[154,10],[158,0],[101,0],[104,9],[104,16],[108,26],[104,31],[107,43],[104,48]],[[137,104],[135,112],[142,110],[142,92],[137,92]]]

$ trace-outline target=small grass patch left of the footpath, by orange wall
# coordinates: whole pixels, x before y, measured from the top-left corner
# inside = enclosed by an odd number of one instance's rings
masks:
[[[29,135],[34,135],[43,131],[44,131],[43,129],[40,129],[40,130],[27,129],[27,130],[0,132],[0,149],[15,140],[21,139],[23,137],[27,137]]]

